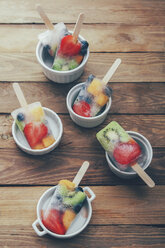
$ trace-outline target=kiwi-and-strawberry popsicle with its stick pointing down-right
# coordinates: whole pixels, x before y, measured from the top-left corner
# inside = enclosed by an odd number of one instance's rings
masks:
[[[140,145],[116,122],[110,122],[100,130],[96,137],[110,158],[120,169],[122,166],[131,166],[149,187],[154,187],[153,180],[137,163],[142,155]]]

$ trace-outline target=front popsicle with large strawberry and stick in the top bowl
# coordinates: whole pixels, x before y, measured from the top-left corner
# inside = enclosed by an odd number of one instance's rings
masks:
[[[57,71],[73,70],[82,62],[83,56],[87,53],[88,42],[79,41],[78,34],[84,19],[81,13],[78,17],[73,35],[65,35],[57,49],[53,69]]]

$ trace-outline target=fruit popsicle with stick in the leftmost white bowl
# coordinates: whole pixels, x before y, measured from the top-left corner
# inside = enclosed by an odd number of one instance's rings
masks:
[[[35,102],[28,105],[19,84],[14,83],[13,88],[22,106],[11,113],[19,130],[24,134],[32,149],[49,147],[55,139],[45,119],[41,103]]]

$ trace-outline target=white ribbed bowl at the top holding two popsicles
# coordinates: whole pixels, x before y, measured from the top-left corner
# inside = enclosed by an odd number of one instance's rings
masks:
[[[69,33],[72,34],[71,31],[69,31]],[[79,35],[79,40],[82,41],[85,39],[81,35]],[[77,68],[70,70],[70,71],[56,71],[56,70],[51,69],[53,61],[49,57],[47,58],[47,60],[45,59],[44,61],[43,45],[40,41],[37,44],[36,57],[37,57],[39,64],[42,66],[45,76],[48,79],[56,83],[70,83],[78,79],[83,73],[84,66],[86,65],[88,57],[89,57],[89,47],[87,49],[87,54],[85,54],[81,64]]]

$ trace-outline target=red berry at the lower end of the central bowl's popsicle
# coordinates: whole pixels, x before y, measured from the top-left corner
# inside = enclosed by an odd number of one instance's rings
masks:
[[[91,114],[90,114],[91,107],[85,101],[81,101],[81,102],[75,103],[73,105],[73,110],[78,115],[81,115],[81,116],[84,116],[84,117],[90,117],[91,116]]]

